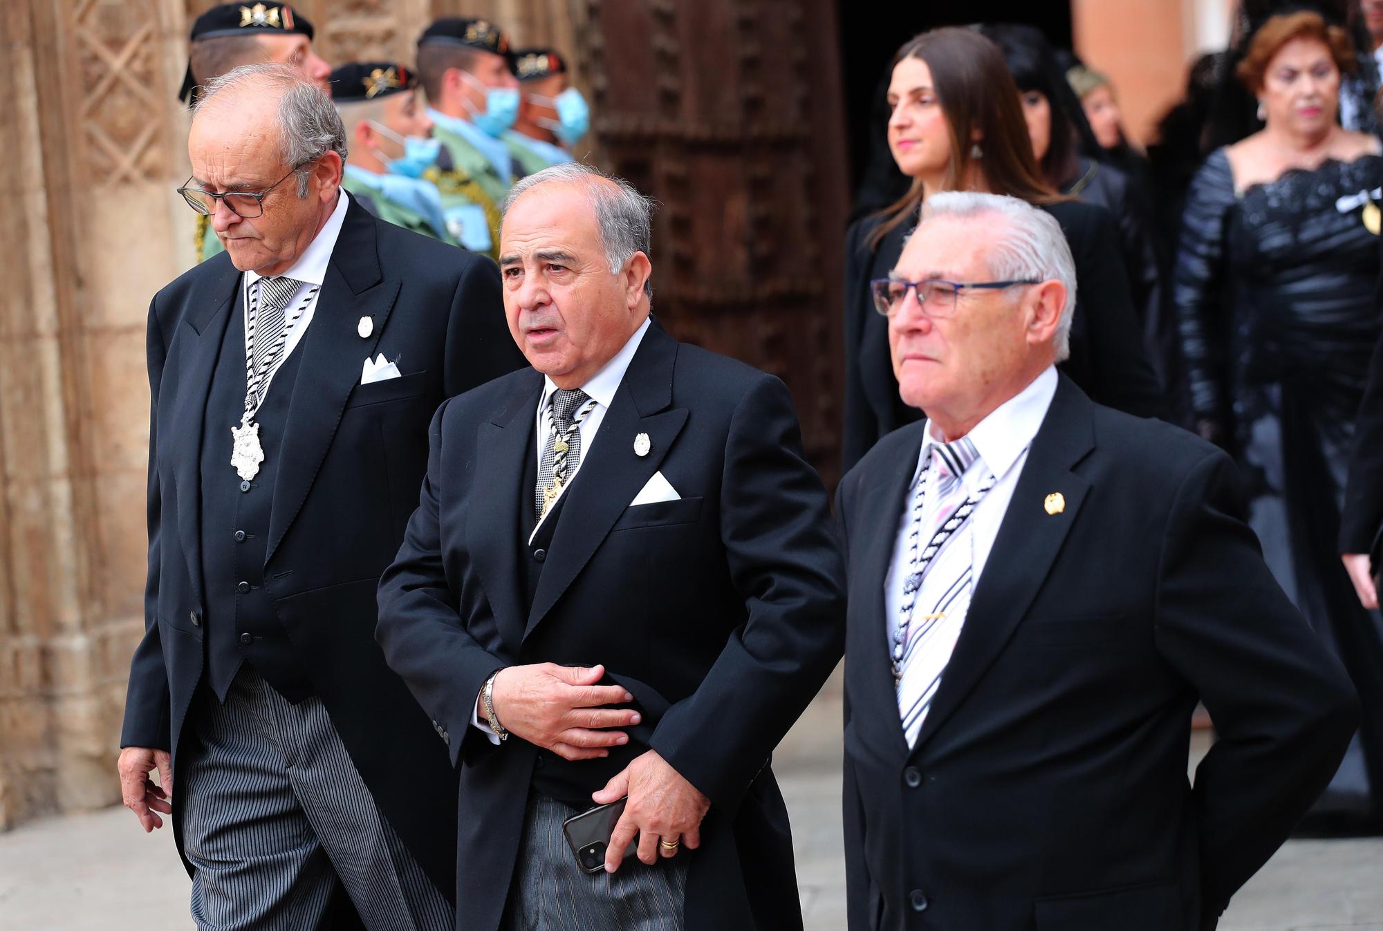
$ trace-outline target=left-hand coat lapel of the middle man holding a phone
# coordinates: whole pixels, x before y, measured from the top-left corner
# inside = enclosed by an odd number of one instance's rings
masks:
[[[466,551],[476,561],[499,635],[516,655],[526,617],[514,528],[520,526],[520,504],[531,500],[523,488],[524,463],[532,449],[541,395],[542,376],[530,369],[503,409],[477,428],[474,475],[484,485],[470,496],[466,515]]]

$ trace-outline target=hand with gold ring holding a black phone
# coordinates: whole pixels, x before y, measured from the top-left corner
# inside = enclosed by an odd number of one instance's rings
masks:
[[[620,869],[624,851],[635,834],[639,834],[639,859],[644,863],[653,863],[658,855],[676,856],[679,840],[692,850],[701,845],[701,819],[711,808],[711,800],[656,750],[636,757],[604,789],[591,794],[599,805],[625,796],[629,801],[606,848],[606,873]]]

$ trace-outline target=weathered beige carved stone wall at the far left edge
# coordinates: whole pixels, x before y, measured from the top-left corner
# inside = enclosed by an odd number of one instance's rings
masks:
[[[154,291],[191,262],[174,0],[3,4],[0,826],[119,798]]]

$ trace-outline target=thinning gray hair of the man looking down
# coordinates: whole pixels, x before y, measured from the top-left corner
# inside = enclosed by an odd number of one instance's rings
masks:
[[[311,169],[304,167],[308,162],[328,152],[346,160],[346,128],[332,98],[292,65],[241,65],[206,81],[201,99],[192,106],[192,119],[221,94],[248,87],[278,93],[278,146],[284,162],[296,169],[297,196],[306,198],[307,182],[313,177]]]

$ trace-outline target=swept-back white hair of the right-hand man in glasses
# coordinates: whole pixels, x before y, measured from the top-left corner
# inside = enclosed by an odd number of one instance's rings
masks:
[[[922,203],[921,224],[939,217],[997,217],[1000,233],[986,256],[989,271],[1000,280],[1025,278],[1058,280],[1066,286],[1066,305],[1052,336],[1057,362],[1070,355],[1070,319],[1076,311],[1076,260],[1070,257],[1066,233],[1046,210],[1018,198],[975,191],[945,191]]]

